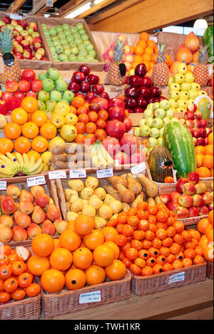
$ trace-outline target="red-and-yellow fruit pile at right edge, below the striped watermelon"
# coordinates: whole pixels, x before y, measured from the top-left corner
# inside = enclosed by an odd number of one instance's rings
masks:
[[[213,190],[213,184],[211,185]],[[180,178],[170,194],[161,194],[161,202],[173,210],[178,219],[207,215],[213,210],[213,192],[208,192],[204,182],[196,172],[188,178]]]

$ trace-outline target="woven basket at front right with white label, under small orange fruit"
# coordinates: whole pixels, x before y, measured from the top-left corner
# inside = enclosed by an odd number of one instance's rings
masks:
[[[177,286],[205,281],[206,266],[207,264],[204,262],[151,276],[136,276],[133,274],[131,279],[131,291],[135,295],[141,296],[157,291],[168,290]]]

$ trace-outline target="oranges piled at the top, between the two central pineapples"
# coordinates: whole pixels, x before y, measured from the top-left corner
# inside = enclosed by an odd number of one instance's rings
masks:
[[[146,71],[151,73],[152,68],[156,63],[157,56],[158,48],[156,46],[156,42],[150,39],[148,33],[143,31],[143,33],[140,34],[140,39],[134,48],[134,62],[132,63],[131,68],[135,69],[138,63],[144,63]],[[173,62],[172,59],[168,54],[165,54],[165,57],[165,63],[170,66]]]

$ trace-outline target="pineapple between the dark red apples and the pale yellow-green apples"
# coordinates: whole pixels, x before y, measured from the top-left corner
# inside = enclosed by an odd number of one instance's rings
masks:
[[[168,85],[169,79],[169,69],[168,66],[164,63],[165,58],[165,44],[158,44],[158,57],[156,58],[156,64],[153,66],[153,72],[151,78],[154,85],[164,87]]]

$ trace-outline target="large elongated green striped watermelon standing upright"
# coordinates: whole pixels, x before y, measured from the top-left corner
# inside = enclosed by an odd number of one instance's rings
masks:
[[[196,157],[193,137],[185,125],[180,122],[170,122],[163,130],[163,145],[173,157],[176,177],[187,178],[190,172],[195,172]]]

